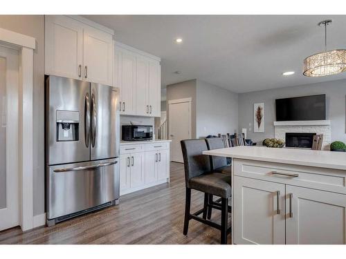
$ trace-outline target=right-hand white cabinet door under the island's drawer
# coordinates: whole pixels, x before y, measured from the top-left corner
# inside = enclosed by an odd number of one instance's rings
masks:
[[[345,238],[346,195],[286,185],[286,244],[346,244]]]

